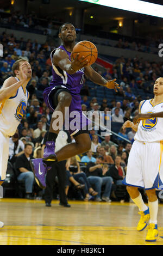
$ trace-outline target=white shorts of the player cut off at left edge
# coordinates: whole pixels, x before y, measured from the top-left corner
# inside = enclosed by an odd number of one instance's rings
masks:
[[[0,131],[0,181],[5,180],[9,158],[9,136]]]

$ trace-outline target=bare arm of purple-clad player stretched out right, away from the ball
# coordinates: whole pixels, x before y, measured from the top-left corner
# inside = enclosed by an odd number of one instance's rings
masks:
[[[115,89],[116,92],[117,89],[120,88],[119,84],[115,82],[116,79],[105,80],[105,78],[98,74],[98,72],[96,72],[94,69],[92,69],[91,66],[85,66],[85,75],[89,77],[93,83],[97,83],[100,86],[105,86],[109,89]]]

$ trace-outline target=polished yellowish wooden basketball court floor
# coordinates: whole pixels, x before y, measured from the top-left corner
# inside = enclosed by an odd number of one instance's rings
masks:
[[[0,199],[0,245],[163,245],[163,205],[159,205],[159,237],[145,242],[138,232],[140,215],[133,203],[69,201],[71,208],[43,200]]]

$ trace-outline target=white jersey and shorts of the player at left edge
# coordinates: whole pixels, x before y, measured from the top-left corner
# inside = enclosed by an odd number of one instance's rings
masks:
[[[18,78],[15,78],[18,81]],[[26,111],[27,101],[28,92],[21,86],[14,97],[10,97],[4,103],[0,102],[0,181],[5,180],[9,158],[9,137],[15,134]]]

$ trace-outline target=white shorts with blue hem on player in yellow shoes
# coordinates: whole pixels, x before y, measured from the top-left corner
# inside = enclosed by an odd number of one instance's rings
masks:
[[[163,188],[163,141],[134,141],[128,158],[125,185],[145,190]]]

